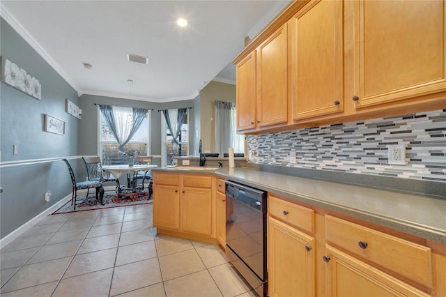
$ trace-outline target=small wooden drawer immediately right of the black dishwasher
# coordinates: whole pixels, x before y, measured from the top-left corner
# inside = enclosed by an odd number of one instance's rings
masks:
[[[314,233],[314,211],[270,195],[268,213],[298,229]]]

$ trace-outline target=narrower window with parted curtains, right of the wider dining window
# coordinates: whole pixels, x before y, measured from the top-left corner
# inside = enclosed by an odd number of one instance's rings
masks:
[[[166,119],[164,116],[161,121],[161,162],[162,166],[169,166],[174,160],[174,156],[189,155],[189,112],[186,114],[185,121],[181,125],[180,135],[178,135],[179,146],[172,143],[171,132],[167,128]]]

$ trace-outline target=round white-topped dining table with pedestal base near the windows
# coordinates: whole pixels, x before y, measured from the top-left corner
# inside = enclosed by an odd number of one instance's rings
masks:
[[[134,197],[144,195],[146,192],[142,188],[142,185],[137,184],[137,178],[132,178],[132,176],[136,176],[138,172],[145,172],[152,169],[157,168],[158,165],[151,164],[141,164],[141,165],[104,165],[102,166],[102,176],[104,178],[109,178],[111,174],[115,178],[120,178],[123,174],[127,175],[127,185],[121,185],[118,188],[117,197],[130,197],[134,199]]]

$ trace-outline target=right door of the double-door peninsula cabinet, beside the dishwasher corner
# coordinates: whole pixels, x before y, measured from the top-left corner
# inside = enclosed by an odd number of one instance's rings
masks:
[[[183,231],[212,235],[212,194],[210,189],[183,188]]]

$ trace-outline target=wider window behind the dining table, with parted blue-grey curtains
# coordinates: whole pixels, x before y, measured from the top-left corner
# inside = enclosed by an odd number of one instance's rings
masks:
[[[132,109],[130,107],[113,107],[115,114],[118,116],[127,117],[131,114]],[[102,112],[99,111],[99,155],[102,160],[102,165],[125,165],[128,164],[128,157],[123,155],[118,149],[118,142],[112,135],[107,123],[105,122]],[[129,116],[129,121],[132,121]],[[134,133],[132,139],[128,144],[125,144],[125,148],[128,150],[137,150],[139,155],[150,155],[150,111],[147,112],[146,118],[142,121],[137,132]]]

